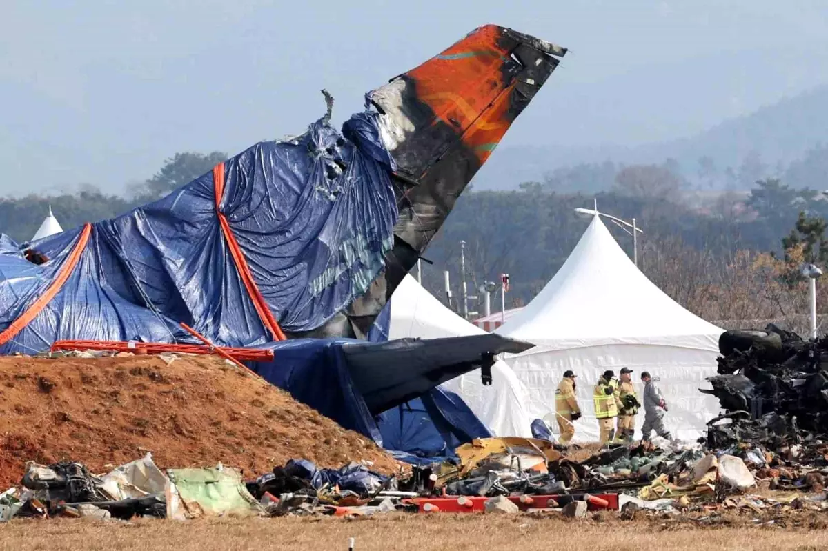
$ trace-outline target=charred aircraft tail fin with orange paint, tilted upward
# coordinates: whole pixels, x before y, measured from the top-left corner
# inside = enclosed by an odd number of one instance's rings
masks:
[[[482,26],[368,93],[383,114],[383,142],[397,164],[394,247],[368,293],[315,336],[364,337],[465,186],[565,54],[566,48],[532,36]]]

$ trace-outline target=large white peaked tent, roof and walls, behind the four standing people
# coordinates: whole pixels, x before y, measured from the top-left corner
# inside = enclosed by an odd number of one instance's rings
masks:
[[[584,416],[575,439],[596,440],[592,390],[607,369],[633,370],[639,400],[641,371],[660,378],[667,401],[665,424],[677,438],[698,438],[718,413],[718,400],[698,389],[715,375],[724,332],[682,308],[630,261],[596,216],[556,275],[531,303],[496,331],[537,345],[504,361],[527,386],[532,416],[555,411],[564,371],[577,376]],[[556,428],[554,413],[546,419]],[[643,411],[636,419],[640,438]]]

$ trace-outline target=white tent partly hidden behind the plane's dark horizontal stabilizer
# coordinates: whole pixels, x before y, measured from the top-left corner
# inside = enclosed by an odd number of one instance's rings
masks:
[[[388,338],[444,338],[484,334],[440,303],[411,276],[406,275],[391,297]],[[532,436],[532,419],[524,407],[526,390],[503,362],[492,366],[492,384],[483,386],[480,370],[443,383],[457,393],[498,436]]]

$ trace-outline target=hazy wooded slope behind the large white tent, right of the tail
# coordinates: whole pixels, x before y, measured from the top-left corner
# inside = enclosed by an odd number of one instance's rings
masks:
[[[522,184],[512,192],[463,194],[426,251],[433,265],[422,265],[423,284],[443,296],[442,271],[449,270],[458,294],[462,240],[472,294],[484,281],[497,282],[499,274],[508,273],[508,306],[527,304],[566,261],[589,223],[575,208],[592,208],[597,200],[601,211],[636,218],[644,232],[638,240],[639,266],[650,279],[680,304],[723,319],[737,312],[724,302],[715,308],[701,304],[700,290],[709,294],[713,285],[700,284],[705,276],[732,277],[724,272],[758,254],[768,255],[768,262],[782,258],[795,245],[782,237],[790,239],[797,220],[828,218],[828,201],[821,193],[793,189],[778,179],[759,180],[746,193],[701,195],[684,189],[662,165],[625,167],[611,190],[595,194],[561,194],[540,183]],[[608,228],[632,256],[632,238],[613,224]],[[809,238],[821,242],[821,237]],[[825,249],[828,254],[828,243]],[[499,299],[493,306],[499,309]],[[478,304],[472,307],[478,309]],[[764,309],[763,315],[770,316],[771,310]]]

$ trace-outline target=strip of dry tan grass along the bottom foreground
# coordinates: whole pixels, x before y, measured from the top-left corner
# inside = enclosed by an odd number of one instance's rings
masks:
[[[355,551],[673,551],[694,549],[828,550],[824,515],[758,527],[747,517],[700,526],[696,520],[618,520],[617,515],[588,520],[517,515],[387,515],[373,519],[282,518],[132,523],[88,520],[17,520],[0,525],[0,550],[164,549],[225,551],[262,549],[348,549]]]

